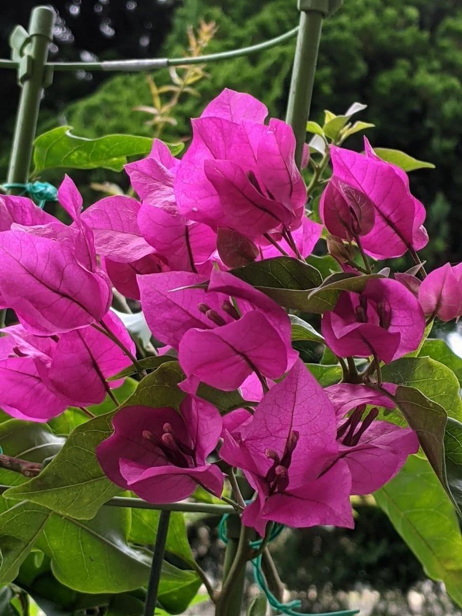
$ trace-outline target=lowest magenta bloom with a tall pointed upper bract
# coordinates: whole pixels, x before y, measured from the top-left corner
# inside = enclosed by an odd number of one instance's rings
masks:
[[[243,513],[246,525],[261,535],[268,521],[353,526],[349,469],[343,460],[334,464],[335,413],[301,360],[265,394],[251,419],[243,419],[232,433],[224,432],[220,456],[243,469],[257,490]]]

